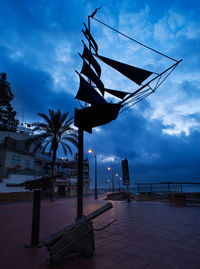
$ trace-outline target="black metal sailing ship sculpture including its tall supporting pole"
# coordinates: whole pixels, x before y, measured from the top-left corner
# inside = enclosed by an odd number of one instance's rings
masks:
[[[160,53],[128,36],[117,31],[116,29],[106,25],[105,23],[94,18],[98,9],[96,9],[92,15],[88,16],[88,26],[84,24],[84,30],[82,30],[86,40],[88,41],[89,48],[83,42],[83,53],[79,54],[82,58],[83,65],[80,73],[77,74],[80,78],[80,85],[76,95],[76,99],[85,102],[85,107],[81,109],[75,108],[75,121],[74,124],[79,129],[79,148],[78,148],[78,202],[77,202],[77,218],[82,217],[83,213],[83,182],[82,182],[82,159],[83,159],[83,132],[87,131],[92,133],[92,128],[101,126],[115,120],[118,117],[119,112],[123,112],[129,107],[133,106],[137,102],[140,102],[150,94],[154,93],[162,82],[169,76],[169,74],[176,68],[176,66],[182,61],[175,60],[163,53]],[[130,40],[142,45],[163,57],[167,57],[172,60],[173,63],[170,67],[164,71],[155,73],[153,71],[144,70],[139,67],[128,65],[126,63],[119,62],[114,59],[109,59],[99,54],[98,44],[95,41],[93,35],[90,32],[90,19],[93,19],[104,26],[118,32],[119,34],[129,38]],[[132,93],[118,91],[115,89],[108,89],[104,86],[101,80],[101,66],[97,60],[105,63],[109,67],[115,69],[127,79],[131,80],[134,84],[137,84],[138,89]],[[144,84],[142,84],[144,82]],[[153,83],[154,82],[154,83]],[[109,93],[121,100],[117,103],[109,103],[104,98],[104,94]]]

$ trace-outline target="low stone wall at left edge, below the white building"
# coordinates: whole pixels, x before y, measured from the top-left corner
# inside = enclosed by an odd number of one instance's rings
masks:
[[[0,193],[0,203],[20,202],[33,200],[33,192]]]

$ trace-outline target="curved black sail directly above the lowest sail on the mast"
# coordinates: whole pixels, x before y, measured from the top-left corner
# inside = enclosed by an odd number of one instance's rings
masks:
[[[83,59],[83,67],[81,69],[81,73],[88,77],[96,86],[99,88],[102,95],[104,95],[104,85],[103,82],[99,79],[99,77],[95,74],[89,64]]]

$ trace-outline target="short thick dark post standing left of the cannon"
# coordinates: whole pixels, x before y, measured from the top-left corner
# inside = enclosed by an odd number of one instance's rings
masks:
[[[33,215],[32,215],[31,246],[37,246],[39,244],[40,202],[41,202],[41,191],[40,190],[35,190],[33,192]]]

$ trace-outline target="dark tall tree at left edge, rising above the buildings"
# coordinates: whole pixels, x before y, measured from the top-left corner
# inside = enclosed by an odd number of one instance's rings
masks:
[[[15,119],[16,112],[13,110],[10,102],[14,95],[7,82],[6,74],[0,73],[0,130],[15,132],[18,120]]]

